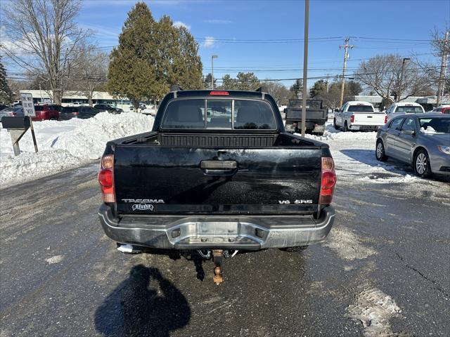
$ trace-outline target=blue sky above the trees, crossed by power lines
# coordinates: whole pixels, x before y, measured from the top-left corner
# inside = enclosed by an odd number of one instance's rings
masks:
[[[136,1],[83,1],[79,23],[96,30],[98,46],[117,44],[127,12]],[[211,55],[214,77],[238,71],[254,71],[259,79],[302,77],[303,43],[252,43],[252,39],[303,39],[304,1],[146,1],[154,18],[169,15],[174,22],[187,25],[199,41],[199,53],[204,74],[210,72]],[[444,29],[450,22],[450,1],[310,1],[309,37],[333,38],[310,41],[308,77],[338,74],[343,52],[338,46],[343,38],[370,37],[380,41],[352,38],[355,48],[350,51],[349,70],[359,60],[377,53],[430,55],[430,45],[421,41],[383,41],[390,39],[430,39],[430,31]],[[221,41],[229,39],[231,41]],[[235,40],[233,42],[233,40]],[[243,43],[242,43],[243,42]],[[309,85],[314,80],[309,80]],[[283,81],[291,84],[292,81]]]

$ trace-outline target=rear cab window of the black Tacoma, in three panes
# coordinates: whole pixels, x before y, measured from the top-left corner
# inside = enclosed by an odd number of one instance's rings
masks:
[[[162,128],[274,130],[274,112],[257,100],[174,100]]]

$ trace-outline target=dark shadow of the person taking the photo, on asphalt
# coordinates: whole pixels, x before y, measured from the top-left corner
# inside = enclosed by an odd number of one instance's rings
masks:
[[[184,295],[157,268],[143,265],[131,268],[95,314],[96,329],[104,336],[169,336],[190,319]]]

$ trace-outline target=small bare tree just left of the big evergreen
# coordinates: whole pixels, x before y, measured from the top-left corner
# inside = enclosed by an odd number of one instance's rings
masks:
[[[80,51],[77,63],[79,67],[74,70],[72,76],[75,90],[83,93],[92,106],[94,91],[107,81],[109,56],[107,53],[95,51],[91,46]]]

